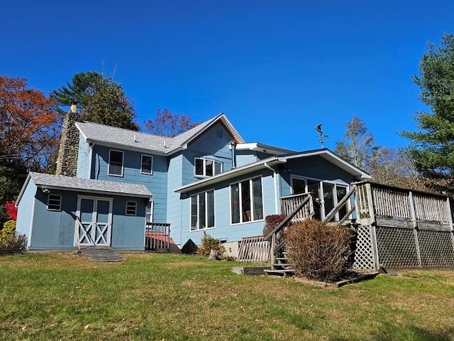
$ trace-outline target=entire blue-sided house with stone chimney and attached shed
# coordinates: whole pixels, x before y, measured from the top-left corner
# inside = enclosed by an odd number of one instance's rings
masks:
[[[16,200],[28,249],[143,250],[146,226],[165,223],[179,247],[207,233],[235,254],[242,238],[262,234],[267,215],[281,212],[282,197],[312,193],[323,219],[353,182],[370,178],[326,148],[247,143],[223,113],[175,137],[71,114],[59,174],[30,173]]]

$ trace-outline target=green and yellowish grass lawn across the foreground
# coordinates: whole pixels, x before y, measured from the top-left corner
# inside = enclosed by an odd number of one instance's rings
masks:
[[[326,289],[196,256],[0,257],[0,340],[454,340],[454,272]]]

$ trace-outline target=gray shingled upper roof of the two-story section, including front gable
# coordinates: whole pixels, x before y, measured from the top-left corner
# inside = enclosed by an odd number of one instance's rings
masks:
[[[123,148],[149,151],[152,153],[169,154],[184,146],[189,141],[194,139],[201,131],[209,127],[215,121],[221,119],[231,134],[240,142],[244,142],[238,131],[230,124],[224,114],[204,121],[198,124],[193,129],[179,134],[175,137],[157,136],[153,134],[132,131],[128,129],[116,128],[114,126],[105,126],[87,121],[77,122],[76,126],[79,131],[87,138],[87,141],[92,141],[95,144],[107,144],[109,146],[122,146]],[[135,138],[135,141],[134,141]]]

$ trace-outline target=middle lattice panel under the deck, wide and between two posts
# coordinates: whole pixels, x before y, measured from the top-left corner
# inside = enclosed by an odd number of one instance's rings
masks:
[[[378,259],[385,268],[418,268],[413,229],[377,227]]]

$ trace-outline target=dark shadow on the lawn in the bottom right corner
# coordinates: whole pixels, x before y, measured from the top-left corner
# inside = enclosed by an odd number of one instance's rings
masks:
[[[448,328],[447,330],[433,332],[415,326],[411,326],[409,328],[398,328],[397,326],[390,326],[390,328],[386,330],[371,332],[370,338],[367,338],[367,340],[452,341],[454,340],[453,335],[454,328]],[[332,340],[347,341],[348,339],[335,337]]]

